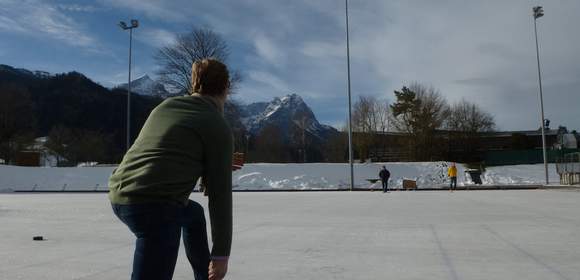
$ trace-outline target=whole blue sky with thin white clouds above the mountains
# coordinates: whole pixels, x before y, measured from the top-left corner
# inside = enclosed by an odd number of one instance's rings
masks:
[[[531,8],[538,23],[546,117],[580,129],[580,1],[351,0],[354,99],[393,101],[417,81],[450,103],[468,99],[494,114],[500,130],[539,127]],[[134,75],[152,75],[152,56],[193,26],[219,33],[249,103],[298,93],[322,123],[346,110],[342,0],[152,1],[0,0],[0,63],[53,73],[79,71],[113,86],[126,82],[128,34],[136,18]]]

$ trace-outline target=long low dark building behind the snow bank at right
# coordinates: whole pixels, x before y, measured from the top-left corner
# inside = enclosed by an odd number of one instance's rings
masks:
[[[546,129],[546,147],[549,162],[557,162],[565,154],[578,151],[577,134],[565,127]],[[376,133],[369,157],[372,161],[413,161],[412,139],[400,132]],[[541,130],[494,131],[465,137],[453,131],[438,130],[432,141],[433,153],[427,160],[485,162],[486,165],[542,163],[543,141]]]

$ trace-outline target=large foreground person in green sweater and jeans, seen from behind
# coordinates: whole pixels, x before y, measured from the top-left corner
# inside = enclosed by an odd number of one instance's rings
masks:
[[[137,241],[131,279],[172,279],[183,231],[195,279],[223,279],[232,242],[233,139],[223,117],[227,67],[213,59],[192,66],[190,96],[168,98],[149,115],[109,179],[113,211]],[[189,200],[202,178],[213,248],[202,206]]]

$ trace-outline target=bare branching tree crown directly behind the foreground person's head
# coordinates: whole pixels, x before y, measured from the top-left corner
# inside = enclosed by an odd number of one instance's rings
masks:
[[[178,34],[175,42],[161,47],[154,55],[161,69],[160,80],[180,92],[191,93],[191,65],[198,60],[213,58],[227,65],[230,51],[220,35],[208,28],[192,28]],[[230,70],[230,84],[241,81],[237,71]]]

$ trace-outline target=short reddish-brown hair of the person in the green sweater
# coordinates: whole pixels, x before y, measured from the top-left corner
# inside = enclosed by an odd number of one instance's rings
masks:
[[[191,93],[222,95],[230,87],[228,67],[220,61],[207,58],[191,66]]]

